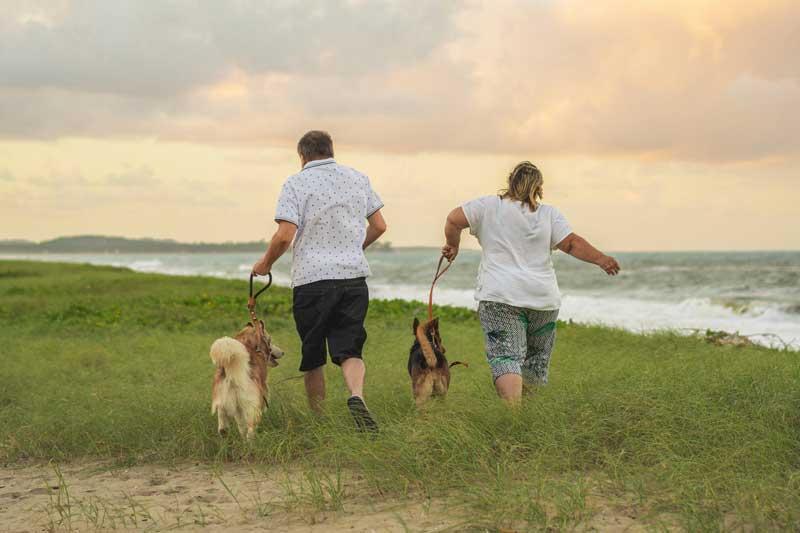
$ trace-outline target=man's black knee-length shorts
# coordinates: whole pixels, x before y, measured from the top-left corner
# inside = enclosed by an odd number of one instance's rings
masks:
[[[324,365],[326,351],[337,365],[350,357],[360,359],[367,340],[364,318],[368,307],[369,289],[364,278],[322,280],[295,287],[294,321],[303,341],[300,371]]]

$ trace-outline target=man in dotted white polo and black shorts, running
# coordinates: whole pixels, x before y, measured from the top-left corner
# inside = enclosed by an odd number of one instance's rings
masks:
[[[297,153],[302,170],[283,185],[275,211],[278,230],[253,272],[270,272],[294,241],[293,311],[309,405],[317,413],[322,410],[329,352],[350,390],[347,406],[356,426],[377,431],[364,403],[361,352],[370,275],[364,250],[386,231],[383,203],[367,176],[333,159],[333,141],[324,131],[303,135]]]

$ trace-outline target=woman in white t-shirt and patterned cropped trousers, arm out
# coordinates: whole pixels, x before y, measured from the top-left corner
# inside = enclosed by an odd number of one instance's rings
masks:
[[[495,388],[510,404],[519,402],[523,385],[547,383],[561,306],[552,250],[594,263],[611,276],[619,272],[617,261],[573,233],[558,209],[539,203],[542,185],[536,165],[523,161],[509,174],[506,190],[454,209],[444,229],[442,253],[450,261],[458,255],[464,229],[481,244],[475,299]]]

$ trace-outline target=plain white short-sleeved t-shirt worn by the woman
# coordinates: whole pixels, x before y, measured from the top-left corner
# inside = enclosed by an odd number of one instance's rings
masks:
[[[499,196],[461,207],[483,249],[475,299],[542,311],[561,307],[551,254],[572,233],[564,215],[550,205],[531,211]]]

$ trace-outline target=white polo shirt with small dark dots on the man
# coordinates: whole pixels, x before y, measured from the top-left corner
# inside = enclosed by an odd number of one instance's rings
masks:
[[[332,158],[306,163],[283,184],[276,221],[297,226],[292,286],[371,274],[362,246],[366,219],[383,207],[369,178]]]

